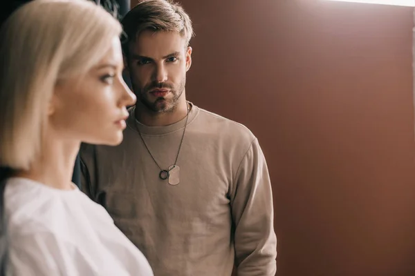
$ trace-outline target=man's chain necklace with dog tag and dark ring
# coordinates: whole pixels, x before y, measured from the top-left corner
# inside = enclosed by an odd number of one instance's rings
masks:
[[[151,154],[151,151],[149,150],[149,147],[147,146],[147,144],[145,144],[144,138],[142,138],[140,128],[137,128],[138,129],[138,134],[140,135],[140,138],[141,138],[141,141],[142,141],[142,144],[144,144],[145,148],[149,152],[149,155],[151,156],[151,159],[153,159],[154,163],[156,163],[156,165],[160,169],[160,172],[158,173],[158,177],[160,177],[160,179],[162,179],[162,180],[169,179],[168,180],[169,184],[173,185],[173,186],[180,183],[180,167],[177,166],[177,160],[178,160],[178,155],[180,155],[180,150],[181,150],[181,146],[183,144],[183,139],[185,138],[185,132],[186,132],[186,127],[187,127],[187,119],[189,119],[189,106],[188,106],[187,103],[186,103],[186,106],[187,106],[187,115],[186,115],[185,128],[183,130],[183,135],[181,137],[180,144],[178,145],[176,160],[174,161],[174,165],[169,166],[169,168],[167,168],[167,170],[163,170],[163,168],[161,168],[160,165],[158,165],[158,162],[156,161],[154,156]]]

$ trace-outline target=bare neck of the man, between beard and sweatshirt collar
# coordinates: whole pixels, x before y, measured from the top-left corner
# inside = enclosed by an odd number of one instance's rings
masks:
[[[169,126],[186,117],[188,105],[189,103],[183,100],[171,112],[155,113],[151,112],[142,103],[137,102],[135,116],[137,121],[145,126]]]

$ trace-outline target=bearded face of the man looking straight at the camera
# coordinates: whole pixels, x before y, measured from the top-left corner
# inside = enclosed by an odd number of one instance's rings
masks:
[[[192,48],[178,32],[145,30],[129,45],[126,61],[133,92],[153,112],[171,112],[185,91]],[[185,97],[183,95],[183,97]]]

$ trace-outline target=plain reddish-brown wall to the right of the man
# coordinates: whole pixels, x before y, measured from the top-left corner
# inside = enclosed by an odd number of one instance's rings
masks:
[[[259,138],[278,275],[415,275],[412,8],[183,0],[187,97]]]

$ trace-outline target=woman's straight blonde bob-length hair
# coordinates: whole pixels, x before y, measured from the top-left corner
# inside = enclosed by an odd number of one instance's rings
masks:
[[[10,16],[0,30],[0,166],[30,168],[57,81],[88,72],[121,32],[86,0],[34,0]]]

